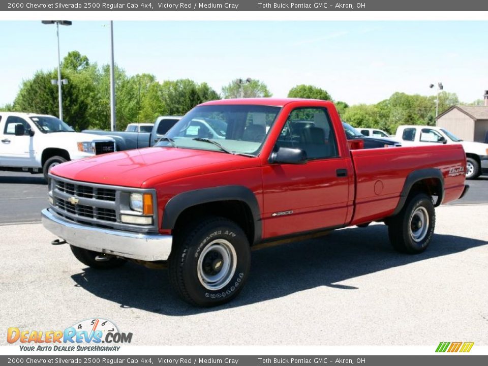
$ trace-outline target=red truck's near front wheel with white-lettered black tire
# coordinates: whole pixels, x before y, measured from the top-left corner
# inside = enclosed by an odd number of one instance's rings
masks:
[[[170,280],[178,295],[201,307],[236,297],[251,266],[251,248],[242,229],[215,217],[180,233],[169,258]]]

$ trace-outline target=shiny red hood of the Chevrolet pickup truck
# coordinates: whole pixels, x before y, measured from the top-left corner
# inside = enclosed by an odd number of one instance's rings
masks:
[[[149,147],[97,155],[57,165],[51,173],[60,177],[113,186],[151,188],[157,182],[258,166],[259,159],[219,151],[173,147]]]

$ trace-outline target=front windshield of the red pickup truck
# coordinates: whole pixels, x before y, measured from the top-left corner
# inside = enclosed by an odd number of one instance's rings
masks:
[[[261,105],[196,107],[156,146],[173,146],[172,140],[175,147],[257,156],[280,110],[281,107]]]

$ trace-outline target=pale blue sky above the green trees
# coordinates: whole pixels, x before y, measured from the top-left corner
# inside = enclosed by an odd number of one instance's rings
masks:
[[[61,57],[78,50],[110,61],[108,22],[60,26]],[[394,92],[463,102],[488,90],[486,21],[114,21],[115,63],[128,75],[207,82],[217,92],[236,78],[260,79],[274,97],[298,84],[336,101],[377,103]],[[0,106],[21,82],[57,67],[54,25],[0,21]]]

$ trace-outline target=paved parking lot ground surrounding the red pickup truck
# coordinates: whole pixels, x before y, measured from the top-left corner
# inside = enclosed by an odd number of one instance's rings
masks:
[[[64,329],[94,317],[132,332],[134,345],[488,345],[488,204],[474,201],[488,178],[470,181],[466,202],[436,209],[423,254],[394,252],[381,224],[338,230],[253,252],[239,297],[199,309],[176,297],[166,270],[96,271],[51,246],[40,223],[7,224],[37,221],[46,205],[40,176],[11,176],[0,178],[2,345],[11,326]]]

